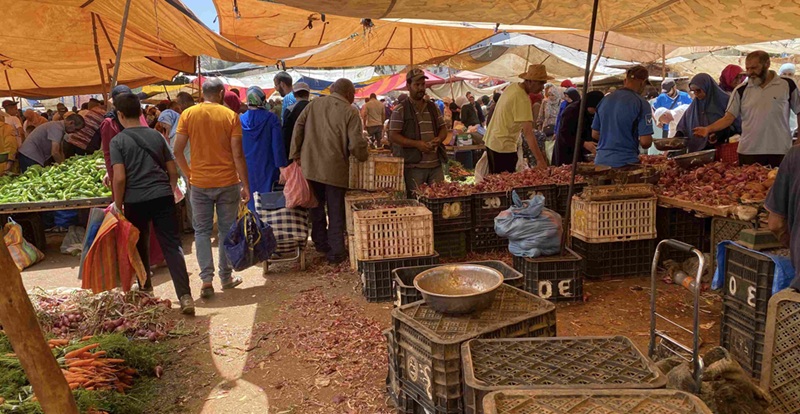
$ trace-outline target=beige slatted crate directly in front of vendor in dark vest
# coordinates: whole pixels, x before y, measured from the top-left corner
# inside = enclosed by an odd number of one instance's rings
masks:
[[[354,190],[406,191],[403,159],[370,154],[365,162],[350,157],[350,185]]]

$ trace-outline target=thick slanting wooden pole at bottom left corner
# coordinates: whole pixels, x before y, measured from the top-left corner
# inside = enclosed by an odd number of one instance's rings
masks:
[[[78,414],[67,380],[44,340],[22,276],[0,243],[0,324],[46,413]]]

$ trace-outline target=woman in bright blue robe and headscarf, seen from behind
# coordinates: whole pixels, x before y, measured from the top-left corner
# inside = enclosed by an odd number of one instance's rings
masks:
[[[236,100],[238,102],[239,98]],[[241,115],[240,120],[250,191],[271,192],[272,185],[280,178],[279,168],[289,163],[286,159],[281,122],[267,109],[267,96],[258,86],[247,89],[247,112]],[[247,206],[255,212],[253,197],[250,197]]]

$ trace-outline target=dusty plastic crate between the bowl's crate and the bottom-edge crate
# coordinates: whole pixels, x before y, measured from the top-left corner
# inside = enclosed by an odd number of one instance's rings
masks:
[[[624,336],[473,339],[461,346],[466,414],[493,391],[658,389],[667,377]]]

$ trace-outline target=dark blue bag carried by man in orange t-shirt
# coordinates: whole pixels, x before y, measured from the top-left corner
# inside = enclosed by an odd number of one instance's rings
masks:
[[[233,270],[240,272],[269,260],[277,245],[272,227],[253,214],[246,204],[239,206],[239,217],[223,242]]]

